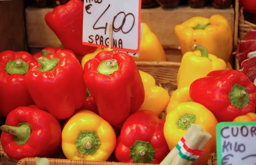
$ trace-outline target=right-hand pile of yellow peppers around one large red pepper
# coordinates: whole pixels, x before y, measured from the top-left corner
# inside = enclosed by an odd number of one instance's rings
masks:
[[[177,74],[177,87],[166,109],[164,135],[174,148],[195,123],[209,132],[212,139],[195,161],[204,165],[216,151],[215,130],[218,122],[255,121],[256,86],[238,70],[226,69],[226,62],[209,54],[202,45],[183,55]]]

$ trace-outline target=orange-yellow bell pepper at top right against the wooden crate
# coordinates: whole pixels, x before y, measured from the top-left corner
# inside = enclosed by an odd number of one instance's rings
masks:
[[[194,44],[204,45],[208,52],[227,62],[233,50],[232,30],[228,20],[221,15],[192,17],[175,26],[181,53],[192,51]]]

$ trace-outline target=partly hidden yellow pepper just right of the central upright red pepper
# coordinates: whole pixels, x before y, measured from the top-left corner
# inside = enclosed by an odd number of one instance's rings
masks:
[[[145,90],[145,99],[140,110],[150,110],[159,116],[170,101],[169,93],[163,87],[156,86],[156,81],[150,74],[141,70],[139,72]]]

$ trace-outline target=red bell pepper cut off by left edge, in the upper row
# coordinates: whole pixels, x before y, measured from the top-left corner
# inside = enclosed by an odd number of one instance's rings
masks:
[[[32,55],[24,51],[0,53],[0,117],[6,117],[19,106],[34,104],[25,77],[36,63]]]

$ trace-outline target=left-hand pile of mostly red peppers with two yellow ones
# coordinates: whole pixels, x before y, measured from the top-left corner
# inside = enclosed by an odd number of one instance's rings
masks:
[[[53,157],[62,149],[67,159],[106,161],[113,153],[120,162],[160,163],[169,153],[158,118],[169,94],[128,54],[99,51],[83,72],[62,47],[33,56],[5,51],[0,66],[9,157]]]

